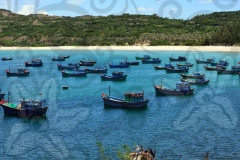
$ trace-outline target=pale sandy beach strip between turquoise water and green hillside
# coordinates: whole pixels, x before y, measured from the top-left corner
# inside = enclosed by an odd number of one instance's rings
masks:
[[[129,50],[129,51],[204,51],[240,52],[239,46],[50,46],[50,47],[0,47],[0,50]]]

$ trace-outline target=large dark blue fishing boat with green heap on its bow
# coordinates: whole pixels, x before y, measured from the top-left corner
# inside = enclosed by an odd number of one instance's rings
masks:
[[[4,113],[17,117],[31,118],[35,115],[46,116],[48,107],[45,106],[46,99],[43,100],[25,100],[20,99],[20,103],[10,102],[10,92],[8,92],[8,100],[2,100],[0,105],[2,106]]]

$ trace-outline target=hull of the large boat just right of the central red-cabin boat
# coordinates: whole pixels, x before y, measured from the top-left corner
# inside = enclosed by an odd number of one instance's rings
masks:
[[[175,89],[164,89],[158,86],[154,86],[154,88],[155,88],[156,95],[162,95],[162,96],[168,96],[168,95],[188,96],[188,95],[192,95],[194,92],[194,89],[190,89],[188,91],[177,91]]]

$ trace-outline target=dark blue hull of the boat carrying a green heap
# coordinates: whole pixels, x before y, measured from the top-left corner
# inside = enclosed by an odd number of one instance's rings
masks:
[[[44,107],[44,108],[34,109],[34,110],[22,110],[22,109],[11,108],[11,107],[5,106],[4,104],[1,104],[1,106],[5,114],[17,116],[17,117],[32,117],[35,115],[45,116],[48,109],[48,107]]]

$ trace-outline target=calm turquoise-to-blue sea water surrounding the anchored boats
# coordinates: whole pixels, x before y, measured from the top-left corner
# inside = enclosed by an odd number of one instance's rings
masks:
[[[154,85],[175,88],[181,76],[155,70],[152,64],[131,66],[128,69],[109,69],[128,74],[123,82],[101,81],[99,74],[87,77],[63,78],[53,56],[71,55],[63,65],[79,60],[97,60],[96,66],[118,63],[126,57],[149,54],[169,62],[169,56],[186,56],[194,63],[189,70],[201,71],[210,79],[206,86],[193,86],[188,97],[156,97]],[[12,56],[12,61],[0,62],[2,92],[11,92],[12,100],[21,98],[48,100],[49,110],[43,118],[15,118],[5,116],[0,109],[0,159],[100,159],[97,142],[102,142],[106,155],[116,158],[116,151],[124,144],[157,150],[157,159],[202,159],[207,151],[212,159],[240,158],[240,99],[239,76],[218,75],[205,71],[195,59],[228,60],[229,68],[240,61],[238,53],[98,50],[1,51],[0,57]],[[28,68],[28,77],[6,77],[5,70],[24,67],[24,61],[42,59],[44,65]],[[172,62],[172,64],[176,64]],[[84,68],[84,67],[82,67]],[[62,90],[62,86],[68,90]],[[101,94],[123,98],[128,91],[143,91],[149,105],[143,110],[109,109],[103,107]],[[39,93],[42,96],[39,96]]]

